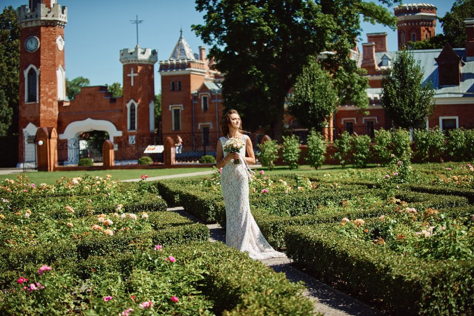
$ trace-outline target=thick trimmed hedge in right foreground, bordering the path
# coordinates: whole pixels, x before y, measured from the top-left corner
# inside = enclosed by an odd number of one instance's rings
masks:
[[[287,256],[298,267],[382,304],[390,314],[473,314],[474,260],[406,257],[354,242],[326,224],[291,227],[285,243]]]

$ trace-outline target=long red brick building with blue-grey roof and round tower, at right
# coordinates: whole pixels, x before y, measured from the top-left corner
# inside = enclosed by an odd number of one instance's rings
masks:
[[[435,6],[405,4],[396,7],[394,12],[398,19],[399,46],[435,35]],[[431,81],[435,89],[436,108],[426,128],[474,128],[474,19],[466,20],[465,25],[465,47],[451,48],[447,44],[443,49],[412,51],[414,60],[424,69],[424,82]],[[369,78],[369,114],[358,113],[351,106],[340,107],[335,117],[336,133],[347,130],[373,134],[374,129],[391,127],[391,119],[380,106],[382,77],[396,55],[396,51],[387,51],[386,43],[386,33],[367,34],[360,66],[367,70]]]

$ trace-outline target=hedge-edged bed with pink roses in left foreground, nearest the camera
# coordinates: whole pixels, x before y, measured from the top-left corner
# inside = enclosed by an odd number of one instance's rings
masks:
[[[90,256],[42,275],[38,267],[4,274],[13,281],[0,294],[0,313],[307,315],[313,308],[301,285],[221,243]]]

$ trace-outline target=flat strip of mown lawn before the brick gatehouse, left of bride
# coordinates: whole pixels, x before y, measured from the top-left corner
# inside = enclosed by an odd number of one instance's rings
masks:
[[[74,178],[84,174],[105,177],[111,175],[114,180],[139,179],[141,175],[159,177],[183,173],[208,171],[210,168],[173,168],[173,169],[123,169],[123,170],[97,170],[97,171],[55,171],[55,172],[28,172],[26,175],[33,183],[53,184],[62,177]],[[18,174],[0,175],[0,180],[15,179]]]

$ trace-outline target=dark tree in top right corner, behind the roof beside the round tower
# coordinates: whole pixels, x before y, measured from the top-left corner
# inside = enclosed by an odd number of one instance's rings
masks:
[[[451,47],[464,47],[466,43],[466,25],[464,20],[474,17],[474,0],[456,0],[443,18],[439,18],[443,33],[424,41],[410,43],[412,49],[443,48],[446,43]]]

